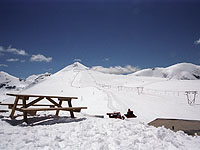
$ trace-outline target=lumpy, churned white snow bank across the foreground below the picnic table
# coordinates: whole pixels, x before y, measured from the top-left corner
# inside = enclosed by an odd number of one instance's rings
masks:
[[[59,123],[60,122],[60,123]],[[198,150],[200,137],[137,120],[60,118],[51,125],[11,126],[0,121],[0,149]],[[57,124],[56,124],[57,123]]]

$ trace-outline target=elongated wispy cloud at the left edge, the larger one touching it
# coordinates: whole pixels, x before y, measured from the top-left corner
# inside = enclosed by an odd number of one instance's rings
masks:
[[[0,46],[0,52],[12,53],[12,54],[17,54],[17,55],[22,55],[22,56],[27,56],[28,55],[28,53],[26,53],[25,50],[14,48],[11,45],[8,46],[7,48],[4,48],[3,46]]]

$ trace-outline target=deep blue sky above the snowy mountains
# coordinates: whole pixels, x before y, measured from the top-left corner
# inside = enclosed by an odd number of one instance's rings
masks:
[[[17,77],[86,66],[200,65],[200,2],[1,0],[0,70]]]

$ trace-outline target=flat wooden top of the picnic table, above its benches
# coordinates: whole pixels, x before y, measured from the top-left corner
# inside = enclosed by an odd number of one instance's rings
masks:
[[[55,96],[55,95],[34,95],[34,94],[14,94],[6,93],[9,96],[19,96],[19,97],[49,97],[49,98],[58,98],[58,99],[78,99],[78,97],[66,97],[66,96]]]

